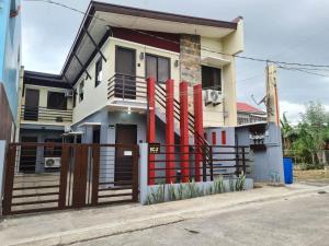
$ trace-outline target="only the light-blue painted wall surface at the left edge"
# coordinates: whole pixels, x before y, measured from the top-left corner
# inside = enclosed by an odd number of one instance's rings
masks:
[[[0,83],[3,83],[9,105],[16,121],[18,87],[21,67],[21,0],[0,0]]]

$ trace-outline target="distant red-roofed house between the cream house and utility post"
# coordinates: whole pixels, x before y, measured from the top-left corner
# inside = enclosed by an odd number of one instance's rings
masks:
[[[264,122],[266,113],[246,103],[237,103],[238,125]]]

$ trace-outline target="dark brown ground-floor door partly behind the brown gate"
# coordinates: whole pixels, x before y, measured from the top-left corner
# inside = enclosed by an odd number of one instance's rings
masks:
[[[115,185],[131,185],[133,180],[133,145],[137,143],[136,125],[116,125],[116,144],[132,147],[116,147],[115,151]]]

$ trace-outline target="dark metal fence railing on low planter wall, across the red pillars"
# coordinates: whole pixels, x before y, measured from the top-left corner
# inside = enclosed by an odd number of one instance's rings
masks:
[[[166,144],[160,145],[160,151],[149,159],[149,180],[155,184],[168,183],[183,183],[183,179],[209,181],[214,180],[216,176],[239,176],[240,174],[249,174],[251,160],[249,159],[249,147],[235,147],[235,145],[212,145],[209,150],[209,163],[207,155],[204,154],[204,148],[197,145],[189,145],[189,152],[182,152],[180,144],[172,145],[174,151],[167,152]],[[166,159],[170,154],[171,160]],[[188,154],[189,159],[185,160],[183,155]],[[195,166],[197,154],[202,154],[200,165]],[[182,161],[184,159],[184,161]],[[188,166],[182,165],[188,162]],[[174,163],[173,166],[168,167],[168,163]],[[188,171],[188,172],[186,172]],[[168,176],[168,174],[170,174]]]

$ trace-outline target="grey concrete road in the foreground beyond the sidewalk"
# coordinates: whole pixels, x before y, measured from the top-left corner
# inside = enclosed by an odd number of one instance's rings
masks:
[[[90,242],[88,245],[329,245],[329,194],[241,207]]]

